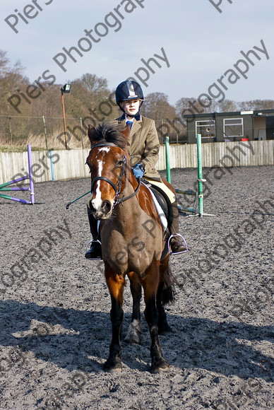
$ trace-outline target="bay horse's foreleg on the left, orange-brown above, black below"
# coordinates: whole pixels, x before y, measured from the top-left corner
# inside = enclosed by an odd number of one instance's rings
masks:
[[[119,372],[121,371],[121,322],[124,317],[122,305],[125,279],[123,276],[117,275],[107,266],[105,269],[105,277],[112,299],[112,310],[110,311],[112,320],[112,342],[109,346],[109,358],[105,362],[104,370]]]

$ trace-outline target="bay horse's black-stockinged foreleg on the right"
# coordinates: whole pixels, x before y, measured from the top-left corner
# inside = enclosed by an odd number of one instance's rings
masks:
[[[145,271],[145,277],[141,279],[141,283],[145,293],[145,320],[148,323],[151,338],[151,371],[157,373],[160,370],[168,370],[169,364],[162,357],[162,348],[158,337],[156,293],[159,283],[159,266],[156,260]]]

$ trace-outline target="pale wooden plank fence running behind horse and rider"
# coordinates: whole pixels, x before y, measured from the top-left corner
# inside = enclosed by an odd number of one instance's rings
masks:
[[[196,144],[171,145],[171,168],[197,168]],[[32,173],[35,182],[71,180],[89,176],[85,160],[88,149],[71,151],[33,151]],[[216,142],[202,144],[203,167],[274,165],[274,140]],[[165,170],[165,146],[160,147],[157,170]],[[28,153],[0,153],[0,184],[26,175]]]

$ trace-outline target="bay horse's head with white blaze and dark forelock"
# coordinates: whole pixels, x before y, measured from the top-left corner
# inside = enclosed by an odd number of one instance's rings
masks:
[[[90,211],[97,219],[108,219],[126,182],[129,127],[103,123],[88,126],[91,149],[87,164],[91,173]]]

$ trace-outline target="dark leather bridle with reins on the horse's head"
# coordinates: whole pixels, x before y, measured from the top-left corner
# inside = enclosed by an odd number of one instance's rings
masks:
[[[91,147],[91,150],[93,150],[93,148],[105,147],[105,146],[115,146],[117,148],[121,148],[121,147],[117,146],[116,144],[113,144],[112,142],[105,142],[104,144],[102,144],[102,143],[101,144],[94,144]],[[123,149],[123,148],[121,148],[121,149]],[[88,161],[86,163],[88,163]],[[119,177],[119,180],[118,180],[117,184],[114,184],[114,182],[112,180],[110,180],[109,178],[107,178],[107,177],[95,177],[94,180],[92,180],[92,182],[91,182],[91,192],[93,193],[93,190],[94,190],[94,187],[95,187],[95,184],[96,184],[97,181],[105,181],[115,191],[114,206],[117,205],[117,204],[120,204],[120,203],[123,204],[124,201],[127,201],[128,199],[134,197],[137,194],[137,192],[140,188],[141,178],[138,178],[138,187],[133,192],[133,194],[129,195],[129,197],[119,198],[119,195],[121,194],[121,186],[123,185],[123,178],[125,177],[125,180],[126,180],[127,166],[128,166],[128,160],[126,158],[126,155],[124,155],[123,164],[121,166],[121,174],[120,174],[120,177]]]

